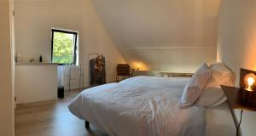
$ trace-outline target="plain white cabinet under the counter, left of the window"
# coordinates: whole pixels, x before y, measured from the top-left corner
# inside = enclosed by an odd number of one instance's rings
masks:
[[[17,104],[57,99],[57,64],[17,63],[15,97]]]

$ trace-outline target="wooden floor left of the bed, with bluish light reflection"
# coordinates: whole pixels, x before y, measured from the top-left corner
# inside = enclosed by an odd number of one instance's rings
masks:
[[[79,94],[71,91],[65,99],[17,105],[15,136],[102,136],[96,127],[84,128],[84,121],[73,116],[68,104]]]

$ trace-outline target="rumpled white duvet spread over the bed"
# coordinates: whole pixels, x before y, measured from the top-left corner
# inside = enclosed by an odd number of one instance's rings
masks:
[[[202,136],[205,109],[179,108],[188,81],[133,77],[84,90],[69,110],[111,136]]]

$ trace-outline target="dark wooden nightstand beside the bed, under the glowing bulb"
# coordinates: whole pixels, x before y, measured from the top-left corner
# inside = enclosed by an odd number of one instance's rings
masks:
[[[255,99],[251,102],[253,105],[244,103],[244,91],[241,88],[234,88],[234,87],[227,87],[227,86],[221,86],[222,90],[224,91],[224,94],[226,95],[228,104],[230,106],[230,111],[232,113],[234,122],[236,124],[236,136],[239,135],[239,129],[241,125],[241,116],[243,111],[256,111],[256,105],[255,105]],[[255,92],[252,92],[253,96],[255,95]],[[251,96],[252,97],[252,96]],[[235,113],[233,109],[241,110],[240,114],[240,121],[237,122]]]

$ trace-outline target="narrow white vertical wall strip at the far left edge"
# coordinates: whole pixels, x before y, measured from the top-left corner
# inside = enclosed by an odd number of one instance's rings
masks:
[[[0,135],[14,136],[10,1],[0,1]]]

